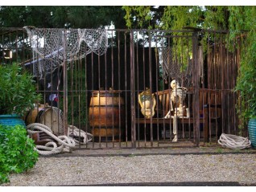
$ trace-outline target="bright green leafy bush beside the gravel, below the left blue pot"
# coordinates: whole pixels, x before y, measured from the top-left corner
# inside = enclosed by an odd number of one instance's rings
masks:
[[[0,125],[0,184],[9,182],[9,174],[30,170],[38,161],[34,140],[21,125]]]

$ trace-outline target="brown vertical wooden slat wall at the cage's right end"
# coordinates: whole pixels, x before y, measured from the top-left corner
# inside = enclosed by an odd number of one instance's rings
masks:
[[[239,41],[239,39],[237,39]],[[239,45],[239,43],[237,42]],[[209,47],[207,58],[208,88],[221,91],[221,129],[222,133],[242,134],[246,130],[238,129],[237,92],[234,92],[240,63],[240,47],[229,51],[225,43],[216,43]]]

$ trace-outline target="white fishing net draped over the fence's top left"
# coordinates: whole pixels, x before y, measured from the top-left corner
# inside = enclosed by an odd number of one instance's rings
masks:
[[[82,59],[89,53],[103,55],[108,47],[105,29],[52,29],[24,27],[33,49],[33,73],[42,77],[64,61]]]

